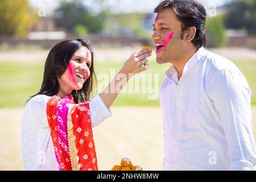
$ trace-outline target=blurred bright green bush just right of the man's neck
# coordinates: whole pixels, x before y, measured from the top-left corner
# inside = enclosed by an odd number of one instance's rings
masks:
[[[223,22],[223,15],[207,17],[206,31],[208,37],[208,47],[222,47],[228,40]]]

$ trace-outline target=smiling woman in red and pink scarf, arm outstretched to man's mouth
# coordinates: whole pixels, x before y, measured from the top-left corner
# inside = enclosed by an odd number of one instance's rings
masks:
[[[25,107],[24,169],[97,170],[92,127],[111,116],[109,107],[120,89],[131,73],[148,68],[146,57],[150,55],[149,49],[131,55],[106,89],[90,100],[94,57],[89,40],[66,40],[56,44],[44,65],[41,89]],[[119,90],[110,89],[113,85],[119,85]]]

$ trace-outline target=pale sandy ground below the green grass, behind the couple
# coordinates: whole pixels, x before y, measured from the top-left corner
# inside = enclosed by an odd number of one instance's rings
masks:
[[[98,168],[110,170],[127,157],[144,170],[161,170],[163,160],[160,107],[112,107],[113,116],[93,129]],[[253,121],[256,121],[256,107]],[[0,170],[23,170],[20,130],[23,108],[0,109]],[[129,114],[129,117],[123,117]],[[150,114],[148,114],[150,113]],[[253,125],[256,140],[256,125]]]

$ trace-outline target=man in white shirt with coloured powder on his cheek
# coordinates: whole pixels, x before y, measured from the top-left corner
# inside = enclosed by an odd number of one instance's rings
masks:
[[[163,169],[255,169],[251,90],[236,65],[203,48],[204,7],[165,0],[154,12],[156,61],[172,64],[160,89]]]

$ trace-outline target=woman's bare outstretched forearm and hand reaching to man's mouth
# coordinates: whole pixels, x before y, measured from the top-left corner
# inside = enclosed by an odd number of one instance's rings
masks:
[[[148,69],[146,57],[151,56],[150,49],[142,49],[131,55],[110,84],[100,93],[106,107],[110,107],[131,76]]]

